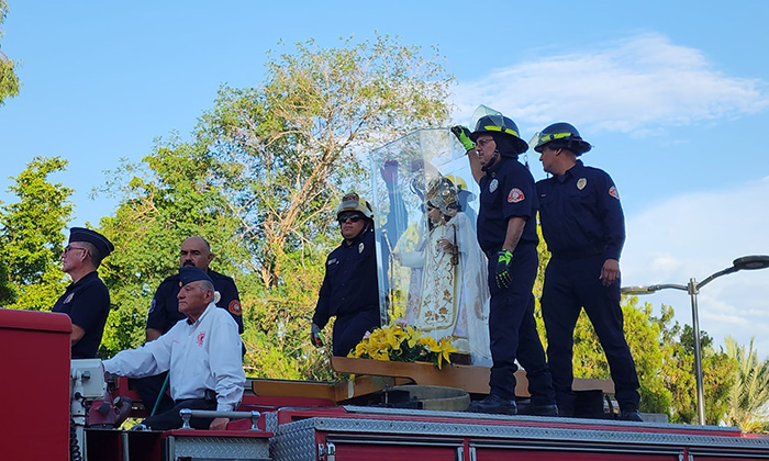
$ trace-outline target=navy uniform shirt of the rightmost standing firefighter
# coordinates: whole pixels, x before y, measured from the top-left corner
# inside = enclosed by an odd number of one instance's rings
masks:
[[[625,217],[620,194],[609,175],[581,160],[566,173],[537,182],[539,222],[555,257],[604,254],[620,260],[625,244]]]

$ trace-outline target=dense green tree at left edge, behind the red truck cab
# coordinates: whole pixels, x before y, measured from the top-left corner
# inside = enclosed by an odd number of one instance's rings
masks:
[[[59,157],[35,157],[12,178],[15,182],[8,190],[19,202],[3,206],[0,215],[0,257],[15,297],[8,307],[49,311],[64,292],[58,266],[63,231],[73,214],[73,190],[47,178],[66,166]]]

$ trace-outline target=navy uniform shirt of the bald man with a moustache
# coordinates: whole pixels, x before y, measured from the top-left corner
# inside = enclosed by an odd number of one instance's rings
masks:
[[[216,303],[218,307],[224,308],[237,323],[237,333],[243,333],[243,316],[241,311],[241,299],[237,294],[235,281],[227,276],[209,269],[209,277],[213,281],[213,288],[221,294],[221,299]],[[147,314],[147,328],[159,329],[164,334],[167,333],[177,322],[187,318],[185,314],[179,312],[179,300],[176,297],[179,294],[179,274],[176,273],[160,283],[157,288],[153,303],[149,306]]]

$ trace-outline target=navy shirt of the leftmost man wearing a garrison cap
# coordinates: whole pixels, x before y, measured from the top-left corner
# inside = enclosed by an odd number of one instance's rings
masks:
[[[53,312],[63,312],[74,325],[85,329],[82,338],[73,346],[73,359],[93,359],[99,351],[107,316],[110,314],[110,291],[93,271],[67,286],[56,301]]]

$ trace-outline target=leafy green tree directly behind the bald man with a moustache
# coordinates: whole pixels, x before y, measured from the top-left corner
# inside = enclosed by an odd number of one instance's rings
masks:
[[[158,142],[141,165],[124,164],[102,192],[120,196],[114,216],[101,220],[115,251],[102,265],[114,308],[100,355],[111,356],[144,342],[147,308],[160,282],[179,269],[179,246],[204,237],[215,258],[212,268],[238,278],[248,270],[238,221],[212,184],[213,159],[204,148],[172,137]]]

